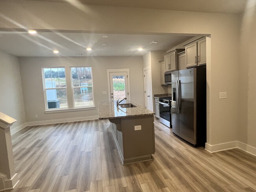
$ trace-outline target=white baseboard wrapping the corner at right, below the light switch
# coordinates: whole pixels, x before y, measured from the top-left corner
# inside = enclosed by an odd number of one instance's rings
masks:
[[[240,141],[232,141],[232,142],[226,142],[226,143],[221,143],[221,144],[216,144],[216,145],[210,145],[208,143],[205,143],[205,150],[209,151],[210,153],[230,150],[230,149],[234,149],[234,148],[239,148],[243,151],[246,151],[247,153],[256,155],[256,148],[249,146],[245,143],[242,143]]]

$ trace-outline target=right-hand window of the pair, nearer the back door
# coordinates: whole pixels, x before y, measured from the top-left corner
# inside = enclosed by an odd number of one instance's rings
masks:
[[[71,67],[74,107],[94,106],[91,67]]]

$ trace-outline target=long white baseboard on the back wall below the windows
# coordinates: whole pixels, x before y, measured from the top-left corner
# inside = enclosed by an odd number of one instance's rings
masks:
[[[32,122],[27,122],[27,126],[38,126],[38,125],[85,121],[85,120],[94,120],[94,119],[98,119],[98,115],[97,116],[88,116],[88,117],[75,117],[75,118],[66,118],[66,119],[45,120],[45,121],[32,121]]]

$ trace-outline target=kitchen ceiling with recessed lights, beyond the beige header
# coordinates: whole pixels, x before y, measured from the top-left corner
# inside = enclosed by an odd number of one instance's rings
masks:
[[[125,35],[0,31],[0,50],[19,57],[139,56],[148,51],[168,50],[193,36],[175,34]],[[150,44],[159,41],[157,44]],[[102,45],[102,43],[107,43]],[[91,51],[86,48],[91,47]],[[138,48],[143,48],[139,51]],[[59,54],[54,54],[58,50]],[[76,55],[82,54],[82,55]]]

